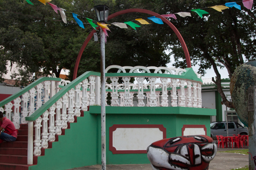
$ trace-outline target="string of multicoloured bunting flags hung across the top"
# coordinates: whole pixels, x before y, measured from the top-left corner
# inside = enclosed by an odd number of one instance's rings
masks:
[[[40,1],[44,5],[46,5],[46,3],[48,3],[57,14],[58,14],[58,11],[60,11],[61,18],[62,18],[63,22],[67,23],[67,17],[66,17],[66,14],[65,14],[65,11],[66,11],[65,9],[60,8],[60,7],[58,7],[58,6],[56,6],[52,3],[49,3],[52,0],[38,0],[38,1]],[[26,0],[26,2],[29,3],[30,5],[34,5],[30,0]],[[252,9],[253,0],[242,0],[242,1],[239,1],[239,2],[242,2],[245,8],[250,9],[250,10]],[[206,8],[213,8],[216,11],[219,11],[219,12],[222,12],[222,10],[225,10],[227,8],[233,8],[233,7],[241,10],[241,6],[237,4],[239,2],[230,2],[230,3],[225,3],[224,5],[216,5],[216,6],[206,7]],[[202,18],[204,14],[209,14],[207,11],[205,11],[203,9],[205,9],[205,8],[192,9],[191,11],[195,12],[196,14],[198,14]],[[78,18],[79,15],[75,14],[73,12],[70,12],[70,13],[72,13],[73,18],[76,20],[76,23],[78,23],[78,25],[81,28],[84,28],[83,22]],[[188,12],[188,11],[186,11],[186,12],[177,12],[175,14],[179,15],[180,17],[192,17],[191,13]],[[163,14],[161,16],[165,17],[165,18],[172,17],[175,20],[177,20],[177,17],[176,17],[175,14]],[[97,23],[98,24],[98,26],[97,26],[95,23],[93,23],[92,19],[90,19],[90,18],[86,18],[86,19],[95,30],[96,30],[96,27],[100,26],[100,28],[102,28],[102,30],[105,32],[105,34],[108,35],[106,30],[110,31],[110,29],[108,28],[109,24]],[[163,24],[163,21],[160,18],[156,17],[156,16],[148,17],[147,19],[151,20],[152,22],[157,23],[157,24]],[[135,19],[135,21],[139,22],[140,24],[150,24],[142,18]],[[136,24],[132,21],[128,21],[128,22],[124,22],[124,23],[111,23],[111,25],[117,26],[119,28],[128,28],[127,27],[127,25],[128,25],[128,26],[131,26],[131,28],[133,28],[135,30],[136,30],[137,27],[140,27],[140,25],[138,25],[138,24]]]

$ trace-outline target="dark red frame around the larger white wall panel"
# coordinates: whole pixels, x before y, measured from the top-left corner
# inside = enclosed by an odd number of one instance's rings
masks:
[[[163,139],[166,139],[166,128],[163,125],[113,125],[109,127],[109,150],[113,154],[147,153],[147,150],[116,150],[113,147],[113,131],[117,128],[158,128],[163,132]]]

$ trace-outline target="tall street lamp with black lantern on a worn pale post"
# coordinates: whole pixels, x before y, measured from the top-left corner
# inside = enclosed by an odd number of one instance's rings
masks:
[[[107,23],[108,6],[94,6],[99,23]],[[105,33],[100,30],[100,82],[101,82],[101,148],[102,148],[102,170],[106,170],[106,107],[105,107]]]

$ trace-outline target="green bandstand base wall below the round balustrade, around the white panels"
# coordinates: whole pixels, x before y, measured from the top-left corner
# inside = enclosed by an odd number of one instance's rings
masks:
[[[100,130],[100,106],[90,106],[90,113],[97,113]],[[106,161],[107,164],[149,164],[147,154],[113,154],[109,150],[109,127],[119,125],[163,125],[166,137],[181,136],[183,125],[205,125],[210,136],[210,116],[216,110],[184,107],[106,107]],[[100,134],[100,132],[99,132]],[[100,141],[100,138],[99,138]],[[99,148],[101,145],[98,145]],[[98,150],[98,162],[101,162]]]

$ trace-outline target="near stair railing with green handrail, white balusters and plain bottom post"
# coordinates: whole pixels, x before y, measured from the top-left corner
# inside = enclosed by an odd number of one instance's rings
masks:
[[[89,93],[87,93],[88,88],[90,88]],[[61,88],[32,115],[26,117],[28,121],[28,164],[33,164],[33,156],[41,155],[41,148],[48,148],[48,142],[55,141],[55,135],[61,135],[61,129],[67,128],[67,122],[75,121],[74,116],[80,116],[80,111],[87,111],[88,105],[100,104],[99,89],[100,73],[87,71]],[[34,141],[33,123],[35,123]]]

